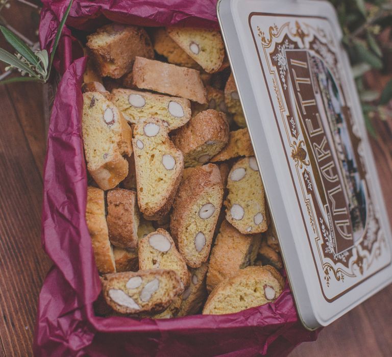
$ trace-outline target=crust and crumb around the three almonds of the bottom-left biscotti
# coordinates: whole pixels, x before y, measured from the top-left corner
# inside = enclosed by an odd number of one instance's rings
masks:
[[[137,288],[127,288],[129,279],[140,277],[141,284]],[[181,292],[180,278],[173,270],[154,269],[139,270],[137,272],[122,272],[106,274],[103,276],[103,295],[110,307],[120,314],[134,314],[142,312],[159,313],[165,310]],[[158,289],[150,295],[150,298],[142,300],[142,291],[146,284],[158,279]],[[111,290],[120,290],[128,295],[134,303],[130,305],[120,304],[113,300]]]

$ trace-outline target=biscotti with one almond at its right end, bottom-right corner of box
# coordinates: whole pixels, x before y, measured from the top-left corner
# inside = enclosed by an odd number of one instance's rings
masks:
[[[275,301],[284,288],[284,279],[273,267],[247,267],[212,291],[203,315],[232,314]]]

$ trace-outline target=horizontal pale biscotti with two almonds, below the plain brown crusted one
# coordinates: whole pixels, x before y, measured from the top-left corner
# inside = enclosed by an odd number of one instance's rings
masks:
[[[112,101],[132,124],[137,124],[140,119],[157,117],[163,120],[170,131],[190,119],[190,101],[185,98],[132,89],[115,89],[112,91]]]

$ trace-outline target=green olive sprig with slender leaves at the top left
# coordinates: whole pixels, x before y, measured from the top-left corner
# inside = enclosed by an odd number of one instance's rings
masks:
[[[5,49],[0,48],[0,61],[8,64],[6,70],[16,69],[21,74],[21,77],[14,77],[0,81],[0,85],[12,82],[47,82],[51,73],[61,33],[73,2],[74,0],[70,0],[64,16],[61,19],[50,58],[46,49],[31,48],[19,36],[6,27],[0,25],[0,31],[3,33],[7,42],[11,44],[16,51],[15,54],[11,54]]]

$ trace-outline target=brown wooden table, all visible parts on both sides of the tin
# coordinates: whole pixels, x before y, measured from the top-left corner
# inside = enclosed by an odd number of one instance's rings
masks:
[[[31,35],[26,8],[12,5],[13,23]],[[4,43],[0,43],[4,46]],[[3,67],[2,67],[3,69]],[[45,130],[42,85],[0,86],[0,357],[32,355],[36,304],[50,260],[41,249],[42,170]],[[386,201],[392,200],[392,135],[379,123],[372,140]],[[392,218],[392,205],[388,205]],[[294,356],[392,355],[392,286],[330,326]]]

